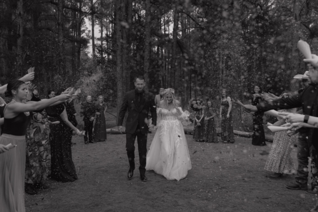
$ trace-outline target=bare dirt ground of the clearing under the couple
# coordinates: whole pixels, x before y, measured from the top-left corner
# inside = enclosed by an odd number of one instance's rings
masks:
[[[148,136],[148,147],[155,133]],[[251,139],[236,137],[234,144],[201,143],[186,136],[192,170],[185,179],[166,180],[147,171],[142,182],[138,169],[129,169],[125,135],[107,135],[107,141],[84,145],[73,137],[73,160],[79,179],[72,183],[49,180],[38,195],[25,196],[27,212],[308,212],[315,196],[293,191],[285,184],[295,175],[270,179],[264,170],[269,145],[256,147]],[[220,138],[219,138],[220,139]],[[137,145],[137,142],[136,142]],[[293,151],[296,161],[296,152]],[[136,149],[136,166],[139,158]],[[296,164],[297,165],[297,164]]]

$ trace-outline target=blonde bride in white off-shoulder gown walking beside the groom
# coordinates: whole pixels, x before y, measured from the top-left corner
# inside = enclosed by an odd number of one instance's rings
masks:
[[[186,177],[191,160],[181,121],[188,115],[179,107],[174,90],[164,90],[163,100],[157,108],[157,132],[147,154],[147,170],[154,170],[168,180]]]

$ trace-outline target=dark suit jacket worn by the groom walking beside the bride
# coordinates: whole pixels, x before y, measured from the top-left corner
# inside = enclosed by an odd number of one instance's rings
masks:
[[[145,101],[142,101],[140,105],[135,103],[135,90],[128,91],[124,96],[123,103],[121,105],[117,126],[122,126],[126,111],[128,111],[128,117],[126,120],[126,133],[133,134],[137,130],[139,124],[140,130],[143,134],[148,133],[148,125],[145,123],[145,119],[148,119],[148,113],[151,112],[152,124],[157,123],[157,107],[155,104],[154,94],[145,91]]]

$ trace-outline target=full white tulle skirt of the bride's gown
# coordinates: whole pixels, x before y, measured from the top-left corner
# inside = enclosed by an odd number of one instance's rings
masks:
[[[160,122],[147,154],[147,170],[168,180],[184,178],[191,169],[188,144],[179,120]]]

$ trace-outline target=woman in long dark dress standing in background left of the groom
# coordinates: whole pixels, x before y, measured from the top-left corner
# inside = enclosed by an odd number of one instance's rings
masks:
[[[96,121],[94,126],[94,140],[97,141],[106,141],[106,110],[107,105],[104,102],[103,96],[98,96],[98,102],[95,106],[96,109]]]

